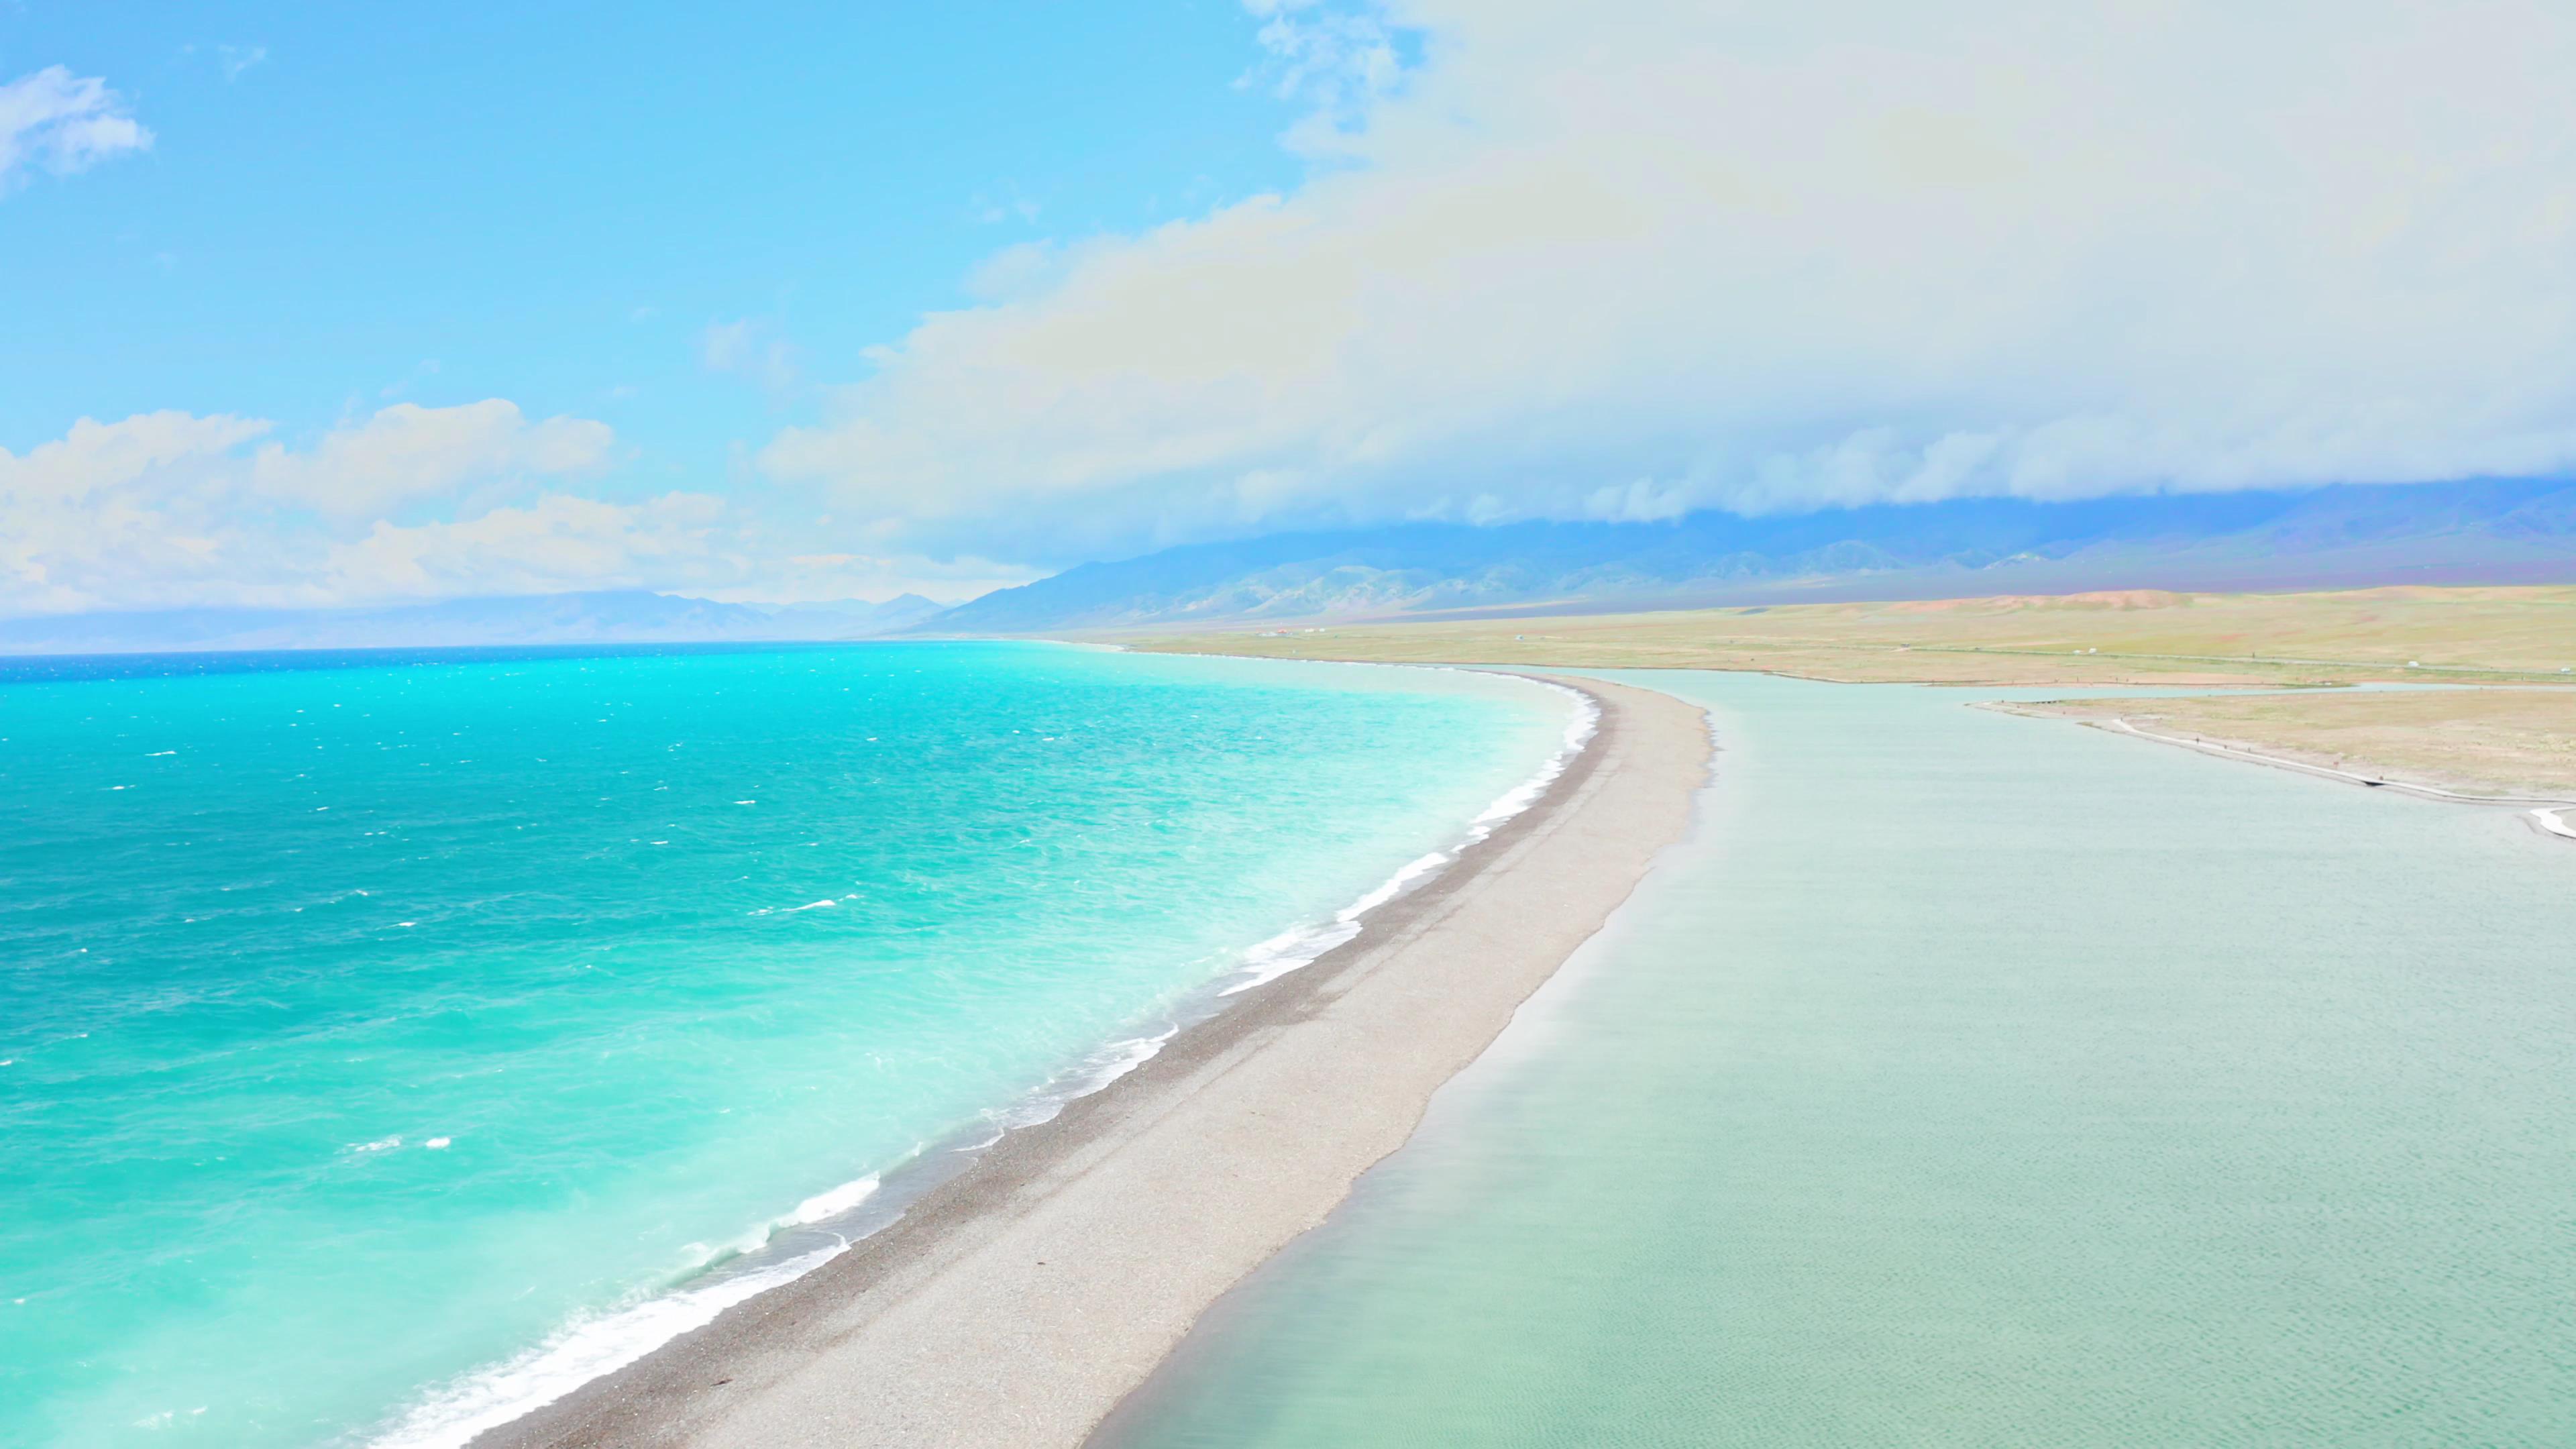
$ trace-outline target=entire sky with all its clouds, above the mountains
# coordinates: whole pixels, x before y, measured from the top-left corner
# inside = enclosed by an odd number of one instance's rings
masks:
[[[2576,469],[2537,0],[0,5],[0,614]]]

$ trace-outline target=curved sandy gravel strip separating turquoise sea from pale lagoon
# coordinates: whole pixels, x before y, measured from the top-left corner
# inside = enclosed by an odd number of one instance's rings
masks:
[[[832,1261],[471,1444],[1082,1444],[1412,1134],[1687,825],[1695,706],[1528,676],[1589,696],[1592,740],[1350,941],[1236,987]]]

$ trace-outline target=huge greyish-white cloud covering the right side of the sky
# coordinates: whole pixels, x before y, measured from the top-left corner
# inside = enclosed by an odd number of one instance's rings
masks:
[[[999,258],[762,467],[1051,559],[2576,467],[2566,5],[1255,8],[1329,168]]]

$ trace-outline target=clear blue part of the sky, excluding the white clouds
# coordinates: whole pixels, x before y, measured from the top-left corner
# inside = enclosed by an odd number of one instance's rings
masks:
[[[1218,0],[31,0],[0,77],[106,77],[152,147],[8,199],[10,330],[44,345],[0,353],[0,446],[507,397],[721,477],[793,400],[711,382],[708,325],[850,371],[1007,242],[1291,183],[1291,103],[1236,85],[1255,28]]]

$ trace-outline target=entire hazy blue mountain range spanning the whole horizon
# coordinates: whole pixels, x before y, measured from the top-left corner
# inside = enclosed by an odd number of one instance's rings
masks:
[[[1656,523],[1396,523],[1090,562],[956,608],[649,590],[381,608],[0,619],[0,655],[1059,634],[1391,614],[1963,598],[2094,588],[2576,583],[2576,482],[2339,485],[2081,503],[1963,498]]]

